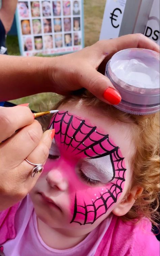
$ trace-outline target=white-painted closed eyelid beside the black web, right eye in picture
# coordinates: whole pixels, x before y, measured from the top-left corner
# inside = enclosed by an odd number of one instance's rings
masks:
[[[114,177],[110,155],[95,159],[85,159],[81,163],[81,171],[92,180],[108,183]]]

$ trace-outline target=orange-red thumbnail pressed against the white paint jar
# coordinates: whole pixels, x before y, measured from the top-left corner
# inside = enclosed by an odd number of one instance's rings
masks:
[[[122,99],[121,95],[113,88],[107,88],[103,94],[103,97],[113,105],[117,105]]]

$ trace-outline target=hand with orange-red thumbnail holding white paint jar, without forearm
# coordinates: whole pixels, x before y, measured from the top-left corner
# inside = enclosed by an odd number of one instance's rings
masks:
[[[145,48],[159,52],[159,46],[142,34],[98,41],[79,52],[56,57],[54,66],[50,59],[48,73],[54,86],[52,90],[59,94],[67,94],[69,91],[84,87],[102,101],[118,104],[121,96],[113,89],[107,90],[114,86],[103,74],[112,55],[127,48]]]

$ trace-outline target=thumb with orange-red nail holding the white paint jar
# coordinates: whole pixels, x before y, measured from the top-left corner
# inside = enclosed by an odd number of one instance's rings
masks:
[[[89,72],[87,70],[85,76],[83,75],[81,79],[83,79],[81,80],[81,86],[103,102],[113,105],[121,102],[121,95],[116,91],[109,78],[97,70],[90,69]]]

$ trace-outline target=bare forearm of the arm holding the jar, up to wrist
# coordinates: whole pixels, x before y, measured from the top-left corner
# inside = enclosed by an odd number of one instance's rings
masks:
[[[48,66],[54,59],[0,55],[0,101],[41,92],[54,92],[48,78]]]

